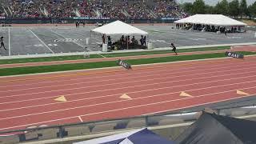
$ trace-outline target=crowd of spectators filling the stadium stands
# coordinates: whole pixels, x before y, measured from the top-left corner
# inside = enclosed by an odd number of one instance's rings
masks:
[[[5,0],[15,18],[105,17],[149,19],[186,14],[174,0]],[[154,2],[153,7],[149,2]],[[1,12],[1,11],[0,11]]]

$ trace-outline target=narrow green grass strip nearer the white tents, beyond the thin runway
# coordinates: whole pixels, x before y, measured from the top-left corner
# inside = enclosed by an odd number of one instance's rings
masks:
[[[192,51],[226,50],[226,49],[230,49],[230,46],[182,49],[182,50],[177,50],[177,52],[184,53],[184,52],[192,52]],[[114,58],[114,57],[126,57],[126,56],[135,56],[135,55],[168,54],[168,53],[173,53],[173,52],[171,50],[152,50],[152,51],[112,53],[112,54],[102,54],[102,55],[105,56],[106,58]],[[90,54],[90,58],[102,58],[102,56],[98,54]],[[27,62],[53,62],[53,61],[65,61],[65,60],[78,60],[78,59],[85,59],[85,58],[83,57],[83,55],[74,55],[74,56],[58,56],[58,57],[44,57],[44,58],[2,59],[0,60],[0,65],[13,64],[13,63],[27,63]]]

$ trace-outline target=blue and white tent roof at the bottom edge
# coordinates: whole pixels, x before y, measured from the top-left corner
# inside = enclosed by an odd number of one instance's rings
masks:
[[[110,135],[103,138],[96,138],[84,142],[76,142],[74,144],[174,144],[174,142],[162,138],[152,131],[145,129],[134,130],[123,134]]]

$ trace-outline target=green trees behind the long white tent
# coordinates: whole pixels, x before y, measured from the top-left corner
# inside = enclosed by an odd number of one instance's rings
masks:
[[[256,17],[256,2],[247,6],[246,0],[233,0],[231,2],[222,0],[215,6],[208,6],[203,0],[196,0],[193,3],[182,4],[182,8],[188,14],[223,14],[234,18]]]

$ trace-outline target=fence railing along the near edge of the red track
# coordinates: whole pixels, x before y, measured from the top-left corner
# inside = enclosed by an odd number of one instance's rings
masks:
[[[230,117],[248,116],[256,114],[256,106],[234,106],[231,108],[215,109],[214,111]],[[184,113],[154,114],[134,118],[81,122],[58,126],[33,126],[25,130],[0,131],[0,143],[32,142],[53,138],[98,134],[114,130],[168,126],[184,122],[194,122],[198,116],[198,111],[186,111]]]

